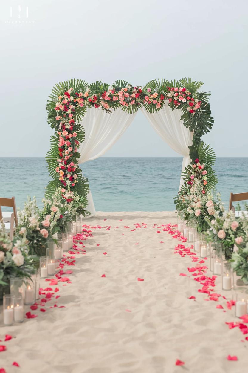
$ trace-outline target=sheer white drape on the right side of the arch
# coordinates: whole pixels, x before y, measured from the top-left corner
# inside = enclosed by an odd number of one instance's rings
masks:
[[[141,108],[145,117],[149,120],[155,131],[167,142],[177,153],[183,156],[182,171],[190,163],[189,145],[192,145],[193,132],[190,132],[180,121],[181,110],[171,108],[165,104],[156,113],[148,113],[144,107]],[[183,185],[183,178],[180,179],[180,186]]]

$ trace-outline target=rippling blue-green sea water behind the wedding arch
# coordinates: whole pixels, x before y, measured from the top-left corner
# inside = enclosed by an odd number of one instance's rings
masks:
[[[81,168],[97,211],[173,211],[181,164],[181,157],[102,157]],[[226,207],[231,191],[248,191],[247,166],[248,158],[216,159],[217,191]],[[17,207],[27,195],[42,206],[48,181],[45,158],[0,158],[0,196],[15,196]]]

